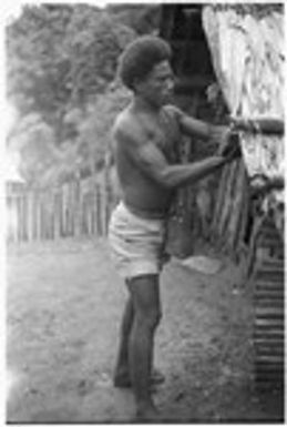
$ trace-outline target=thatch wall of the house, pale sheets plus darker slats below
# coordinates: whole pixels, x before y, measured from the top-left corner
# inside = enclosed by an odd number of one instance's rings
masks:
[[[206,6],[203,26],[230,115],[284,120],[285,50],[280,8]],[[243,160],[223,172],[213,223],[216,237],[237,253],[244,244],[247,250],[254,245],[259,211],[273,211],[281,233],[284,224],[283,191],[267,192],[259,210],[250,203],[255,176],[284,180],[284,138],[242,132],[240,144]]]

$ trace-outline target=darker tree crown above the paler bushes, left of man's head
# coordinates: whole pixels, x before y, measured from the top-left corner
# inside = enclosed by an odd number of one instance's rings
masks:
[[[8,98],[23,114],[40,112],[61,142],[63,115],[104,92],[133,37],[95,7],[25,7],[7,30]]]

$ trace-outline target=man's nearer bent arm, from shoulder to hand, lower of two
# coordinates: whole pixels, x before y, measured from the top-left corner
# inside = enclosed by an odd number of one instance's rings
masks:
[[[170,165],[156,141],[136,124],[117,126],[114,136],[146,176],[167,189],[193,184],[227,163],[225,157],[214,155],[189,164]]]

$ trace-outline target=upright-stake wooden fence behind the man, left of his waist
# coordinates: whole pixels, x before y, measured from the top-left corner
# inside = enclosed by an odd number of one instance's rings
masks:
[[[7,190],[8,242],[106,235],[116,195],[106,182],[73,181],[48,190]]]

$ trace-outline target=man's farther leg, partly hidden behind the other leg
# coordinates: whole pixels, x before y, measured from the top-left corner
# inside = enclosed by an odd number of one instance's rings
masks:
[[[114,385],[116,387],[130,387],[131,377],[129,368],[129,340],[132,331],[134,318],[133,303],[131,296],[124,307],[122,325],[121,325],[121,337],[120,347],[117,354],[117,360],[115,365]]]

